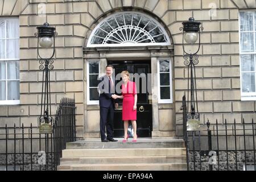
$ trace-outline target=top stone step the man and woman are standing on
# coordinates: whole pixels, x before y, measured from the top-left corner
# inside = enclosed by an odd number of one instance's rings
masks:
[[[117,138],[118,142],[101,142],[100,139],[81,140],[67,143],[67,149],[83,149],[83,148],[183,148],[183,139],[147,139],[139,138],[137,142],[122,142],[123,138]]]

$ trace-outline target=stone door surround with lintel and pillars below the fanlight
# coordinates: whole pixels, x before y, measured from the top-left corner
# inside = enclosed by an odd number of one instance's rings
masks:
[[[172,65],[174,65],[174,46],[147,46],[147,47],[96,47],[96,48],[83,48],[83,63],[84,72],[86,71],[87,60],[99,60],[100,61],[100,73],[105,75],[105,67],[108,61],[118,61],[118,60],[150,60],[151,63],[151,74],[154,75],[158,73],[157,64],[159,57],[170,57]],[[172,67],[172,98],[175,98],[174,90],[174,67]],[[86,74],[84,74],[86,75]],[[158,99],[158,89],[154,86],[157,84],[157,80],[151,79],[151,89],[152,94],[149,95],[150,104],[152,104],[152,137],[156,137],[161,133],[159,131],[159,107],[164,109],[173,109],[172,121],[174,129],[176,127],[175,123],[175,99],[173,99],[172,104],[159,104]],[[90,131],[88,129],[89,119],[88,110],[100,110],[98,105],[87,105],[86,97],[87,80],[84,77],[84,133],[85,136],[94,136],[92,133],[97,133],[98,131]],[[163,106],[162,106],[163,105]],[[173,132],[173,131],[172,131]],[[87,135],[86,135],[87,134]],[[95,136],[96,136],[95,135]]]

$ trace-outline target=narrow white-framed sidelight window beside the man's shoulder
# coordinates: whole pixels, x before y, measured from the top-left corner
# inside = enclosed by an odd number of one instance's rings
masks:
[[[100,80],[98,80],[98,76],[100,73],[100,62],[95,60],[89,60],[87,62],[87,104],[98,104],[99,92],[98,92],[98,84]]]

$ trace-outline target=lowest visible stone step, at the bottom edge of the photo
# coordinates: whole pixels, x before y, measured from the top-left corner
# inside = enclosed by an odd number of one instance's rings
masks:
[[[59,171],[185,171],[186,163],[72,164],[58,166]]]

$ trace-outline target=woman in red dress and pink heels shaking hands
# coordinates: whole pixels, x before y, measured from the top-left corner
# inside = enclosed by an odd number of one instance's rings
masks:
[[[123,142],[127,142],[129,120],[131,125],[133,125],[134,131],[132,142],[137,142],[137,88],[135,82],[129,81],[128,71],[122,71],[121,76],[123,81],[122,96],[118,96],[118,98],[123,99],[122,120],[125,129]]]

